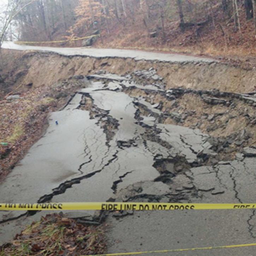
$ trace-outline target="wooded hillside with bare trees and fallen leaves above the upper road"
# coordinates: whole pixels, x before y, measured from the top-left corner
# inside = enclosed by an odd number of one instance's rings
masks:
[[[256,54],[255,6],[255,0],[40,0],[22,9],[12,26],[20,41],[72,40],[100,32],[89,42],[51,46],[248,56]],[[9,29],[6,37],[12,34]]]

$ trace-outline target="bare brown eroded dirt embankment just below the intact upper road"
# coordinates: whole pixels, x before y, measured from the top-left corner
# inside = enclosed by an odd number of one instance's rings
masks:
[[[19,61],[16,59],[16,62]],[[22,68],[11,70],[13,82],[33,87],[51,85],[73,75],[88,75],[97,70],[124,75],[153,67],[162,76],[166,88],[219,89],[245,93],[255,90],[255,69],[218,62],[159,62],[122,58],[60,56],[54,53],[25,52]]]

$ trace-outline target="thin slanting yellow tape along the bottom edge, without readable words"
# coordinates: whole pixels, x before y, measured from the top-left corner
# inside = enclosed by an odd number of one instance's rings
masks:
[[[187,248],[187,249],[159,250],[159,251],[138,251],[138,252],[123,252],[123,253],[121,252],[121,253],[110,253],[110,254],[95,254],[95,255],[87,255],[87,256],[138,255],[138,254],[166,253],[166,252],[177,252],[177,251],[197,251],[197,250],[239,248],[239,247],[249,247],[249,246],[256,246],[256,243],[254,243],[254,244],[236,244],[236,245],[210,246],[210,247],[197,247],[197,248]],[[81,255],[81,256],[85,256],[85,255]]]

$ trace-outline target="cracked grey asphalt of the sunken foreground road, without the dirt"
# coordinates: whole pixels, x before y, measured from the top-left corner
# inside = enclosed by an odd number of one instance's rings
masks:
[[[127,93],[131,87],[146,92],[164,89],[156,85],[148,89],[131,78],[112,74],[88,78],[91,79],[88,87],[79,90],[63,109],[50,114],[45,135],[0,184],[2,202],[256,201],[254,147],[244,148],[235,160],[210,165],[205,159],[214,158],[218,152],[212,149],[207,134],[199,129],[164,124],[160,106]],[[175,91],[168,93],[171,97]],[[64,213],[88,220],[99,216],[94,211]],[[254,210],[109,213],[108,252],[255,243],[254,213]],[[0,243],[14,236],[22,223],[45,213],[28,217],[22,214],[25,212],[0,212]],[[101,213],[104,218],[105,214]],[[242,252],[255,255],[253,248],[171,255]]]

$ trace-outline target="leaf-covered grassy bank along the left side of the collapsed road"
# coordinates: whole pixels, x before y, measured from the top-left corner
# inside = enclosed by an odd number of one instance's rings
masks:
[[[0,100],[0,143],[7,143],[0,144],[0,181],[40,138],[48,113],[64,105],[66,97],[80,86],[71,79],[31,88],[17,100]]]

